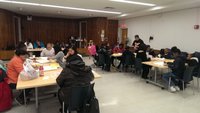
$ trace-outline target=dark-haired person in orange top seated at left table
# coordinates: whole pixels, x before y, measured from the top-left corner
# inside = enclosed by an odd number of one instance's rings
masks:
[[[7,75],[8,75],[8,81],[11,89],[16,89],[18,76],[20,72],[23,70],[23,63],[28,57],[28,52],[17,49],[15,51],[15,56],[8,62],[7,64]],[[29,95],[30,90],[26,90],[26,95]],[[23,92],[15,99],[18,104],[24,104],[24,96]]]

